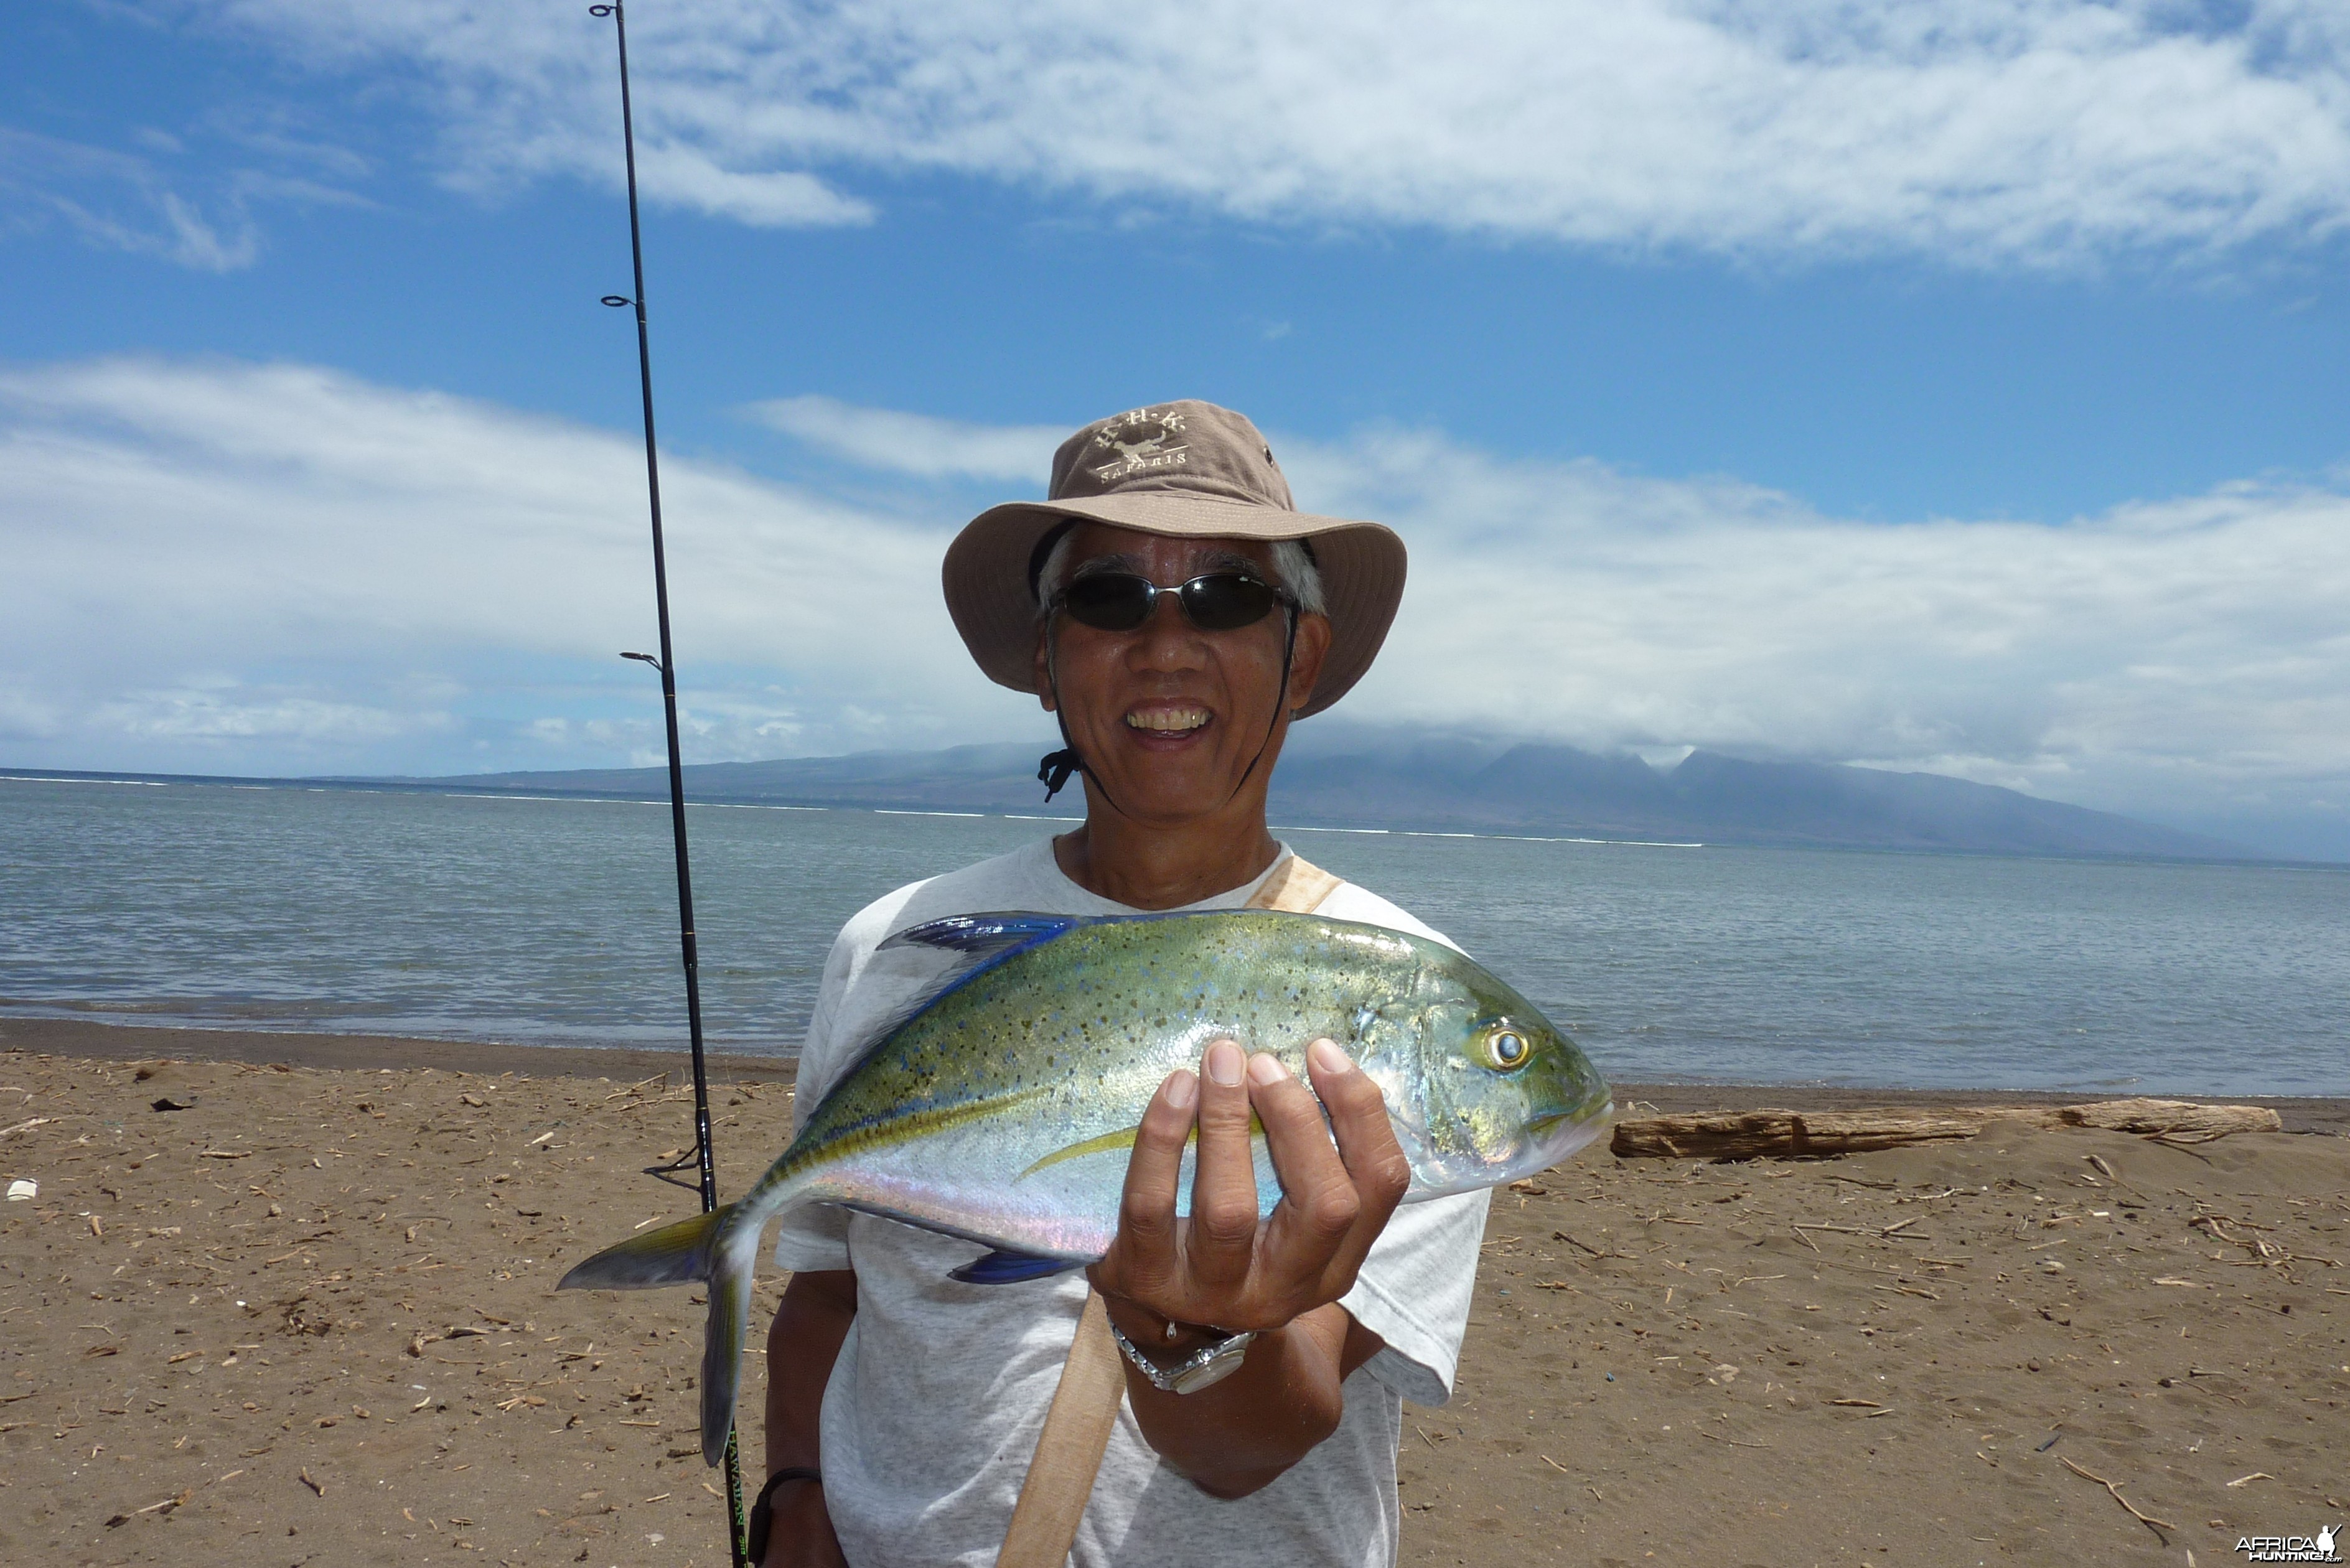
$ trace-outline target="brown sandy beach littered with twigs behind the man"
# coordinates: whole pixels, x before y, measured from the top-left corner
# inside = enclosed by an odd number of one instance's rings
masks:
[[[736,1192],[790,1067],[714,1079]],[[1403,1559],[2228,1563],[2343,1521],[2350,1107],[2270,1105],[1497,1194]],[[642,1173],[689,1143],[677,1056],[0,1023],[0,1178],[38,1182],[0,1208],[0,1559],[724,1563],[698,1307],[552,1291],[696,1208]]]

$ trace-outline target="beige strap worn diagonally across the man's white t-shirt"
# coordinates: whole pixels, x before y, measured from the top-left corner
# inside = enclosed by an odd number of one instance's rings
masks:
[[[1274,865],[1250,898],[1250,910],[1288,910],[1309,914],[1340,886],[1318,865],[1288,856]],[[1109,1338],[1109,1307],[1097,1291],[1086,1291],[1086,1314],[1076,1319],[1069,1363],[1060,1368],[1060,1387],[1043,1413],[1036,1458],[1029,1460],[1020,1502],[1003,1530],[996,1568],[1062,1568],[1076,1544],[1076,1523],[1086,1516],[1093,1476],[1102,1469],[1109,1429],[1119,1425],[1119,1401],[1126,1399],[1126,1359]]]

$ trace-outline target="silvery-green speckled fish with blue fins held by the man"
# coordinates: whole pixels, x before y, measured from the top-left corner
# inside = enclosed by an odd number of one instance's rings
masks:
[[[1379,1084],[1412,1166],[1403,1201],[1497,1187],[1607,1126],[1607,1084],[1483,966],[1382,926],[1318,914],[959,914],[881,943],[954,961],[877,1030],[766,1175],[733,1204],[620,1241],[557,1288],[707,1281],[703,1458],[733,1425],[766,1222],[841,1204],[994,1248],[954,1272],[1010,1284],[1109,1251],[1135,1128],[1210,1039],[1304,1079],[1335,1039]],[[1281,1185],[1255,1138],[1257,1199]],[[1177,1211],[1189,1208],[1184,1157]]]

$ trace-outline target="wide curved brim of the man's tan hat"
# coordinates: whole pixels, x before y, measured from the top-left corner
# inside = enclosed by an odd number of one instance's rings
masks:
[[[947,545],[947,614],[987,679],[1036,689],[1036,599],[1029,559],[1065,522],[1107,522],[1173,538],[1311,538],[1330,614],[1330,654],[1297,717],[1316,715],[1363,679],[1403,602],[1408,557],[1394,529],[1316,517],[1191,491],[1119,491],[1069,501],[1008,501],[973,517]]]

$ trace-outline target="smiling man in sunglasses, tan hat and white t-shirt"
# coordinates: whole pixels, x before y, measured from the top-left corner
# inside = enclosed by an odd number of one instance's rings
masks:
[[[916,976],[874,961],[893,931],[982,910],[1248,903],[1288,853],[1264,792],[1290,719],[1370,668],[1403,595],[1403,543],[1297,512],[1264,437],[1215,404],[1086,425],[1055,454],[1048,494],[964,529],[947,607],[980,668],[1058,717],[1048,783],[1081,771],[1086,820],[848,922],[808,1025],[799,1117],[914,992]],[[1347,884],[1318,907],[1436,936]],[[1330,1041],[1309,1048],[1311,1093],[1246,1046],[1210,1041],[1196,1074],[1161,1086],[1116,1244],[1088,1269],[1128,1363],[1081,1568],[1389,1563],[1401,1401],[1450,1396],[1485,1194],[1398,1208],[1408,1166],[1377,1086]],[[1250,1114],[1283,1182],[1264,1222]],[[1177,1222],[1194,1128],[1191,1218]],[[978,1253],[837,1208],[783,1227],[776,1262],[797,1274],[768,1333],[771,1566],[994,1563],[1086,1274],[947,1279]],[[1243,1331],[1246,1349],[1229,1340]],[[1201,1361],[1236,1371],[1159,1387]]]

